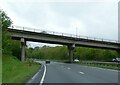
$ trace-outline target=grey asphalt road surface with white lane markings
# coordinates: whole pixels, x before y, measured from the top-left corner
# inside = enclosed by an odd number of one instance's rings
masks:
[[[39,62],[43,64],[43,67],[31,81],[34,83],[37,81],[40,83],[41,81],[42,83],[118,83],[118,71],[116,70],[78,64]]]

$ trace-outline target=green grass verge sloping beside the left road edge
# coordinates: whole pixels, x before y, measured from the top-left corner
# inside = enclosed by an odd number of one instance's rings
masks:
[[[21,62],[16,57],[2,58],[2,83],[26,83],[40,68],[40,64]]]

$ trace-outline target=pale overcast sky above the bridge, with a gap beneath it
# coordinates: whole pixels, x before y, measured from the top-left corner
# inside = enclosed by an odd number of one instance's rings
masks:
[[[118,1],[0,0],[0,7],[14,25],[118,40]]]

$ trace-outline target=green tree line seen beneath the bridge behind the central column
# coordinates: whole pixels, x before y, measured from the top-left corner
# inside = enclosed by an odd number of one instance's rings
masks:
[[[53,60],[68,60],[67,46],[56,47],[35,47],[27,48],[27,57],[38,59],[53,59]],[[113,58],[118,57],[116,51],[76,47],[74,50],[74,59],[79,60],[94,60],[94,61],[112,61]]]

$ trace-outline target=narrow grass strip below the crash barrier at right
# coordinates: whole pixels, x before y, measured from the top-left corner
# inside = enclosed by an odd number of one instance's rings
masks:
[[[80,64],[80,65],[85,65],[85,66],[93,66],[93,67],[99,67],[99,68],[106,68],[106,69],[120,70],[120,67],[112,66],[112,65],[86,64],[86,63],[82,63],[82,62],[78,62],[78,64]]]

